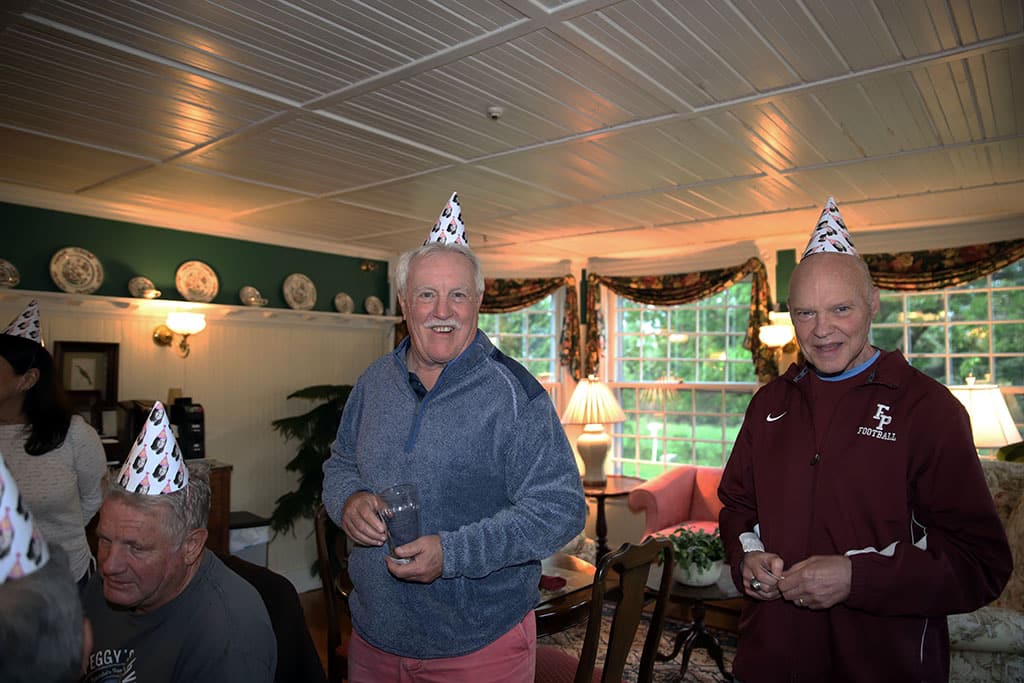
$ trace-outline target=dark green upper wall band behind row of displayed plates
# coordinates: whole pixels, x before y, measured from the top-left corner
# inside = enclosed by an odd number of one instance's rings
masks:
[[[185,261],[213,268],[219,290],[212,303],[240,305],[239,290],[252,285],[267,307],[288,308],[282,292],[285,278],[301,272],[316,286],[313,310],[334,310],[334,295],[347,292],[356,313],[364,300],[377,296],[387,305],[387,261],[336,256],[303,249],[182,232],[105,218],[0,203],[0,258],[18,269],[18,289],[58,292],[50,279],[50,259],[65,247],[92,252],[103,265],[103,284],[95,294],[126,297],[135,275],[152,280],[162,299],[183,300],[174,274]],[[377,269],[364,271],[365,261]]]

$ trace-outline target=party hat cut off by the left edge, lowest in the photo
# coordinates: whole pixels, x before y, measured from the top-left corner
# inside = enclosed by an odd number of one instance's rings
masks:
[[[49,559],[50,550],[0,455],[0,584],[32,573]]]

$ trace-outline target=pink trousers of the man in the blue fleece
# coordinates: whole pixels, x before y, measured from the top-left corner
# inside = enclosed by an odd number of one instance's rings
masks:
[[[532,683],[537,665],[537,621],[526,614],[504,636],[457,657],[413,659],[379,650],[352,631],[349,683]]]

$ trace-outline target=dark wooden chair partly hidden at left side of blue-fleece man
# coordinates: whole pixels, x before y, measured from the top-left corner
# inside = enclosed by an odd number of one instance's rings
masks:
[[[327,605],[327,677],[330,683],[341,683],[348,677],[348,641],[342,633],[342,617],[349,621],[348,596],[352,592],[352,580],[348,578],[348,537],[331,520],[323,505],[316,508],[313,526],[316,564]]]

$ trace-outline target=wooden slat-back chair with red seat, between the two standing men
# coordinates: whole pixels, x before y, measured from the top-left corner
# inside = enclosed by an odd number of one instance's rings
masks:
[[[640,626],[643,607],[650,597],[647,588],[650,567],[659,557],[665,562],[665,570],[655,594],[650,627],[637,672],[638,683],[651,680],[654,655],[657,654],[657,646],[662,640],[662,627],[669,604],[673,563],[672,544],[667,539],[654,537],[639,545],[623,544],[618,550],[601,558],[594,574],[590,620],[579,659],[552,645],[539,645],[535,678],[537,683],[608,683],[623,680],[623,670]],[[606,602],[612,606],[611,623],[604,666],[598,669],[597,651]]]

